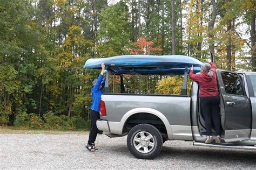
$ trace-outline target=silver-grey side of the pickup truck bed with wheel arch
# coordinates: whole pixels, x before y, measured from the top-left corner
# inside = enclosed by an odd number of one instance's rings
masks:
[[[135,120],[140,123],[152,123],[158,118],[158,124],[165,126],[161,133],[166,133],[168,139],[192,140],[190,103],[191,98],[181,95],[134,95],[134,94],[104,94],[107,114],[101,117],[97,126],[102,128],[107,121],[109,132],[124,134],[129,131],[129,125]],[[130,117],[140,113],[136,117]],[[143,113],[147,116],[143,116]],[[149,118],[151,114],[151,119]],[[154,115],[154,116],[153,116]],[[130,118],[129,118],[130,117]]]

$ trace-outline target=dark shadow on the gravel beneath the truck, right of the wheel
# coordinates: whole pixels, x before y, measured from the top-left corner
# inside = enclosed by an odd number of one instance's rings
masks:
[[[156,159],[186,159],[187,161],[198,161],[208,163],[220,162],[223,164],[243,164],[256,165],[256,151],[251,150],[233,150],[218,149],[211,147],[193,147],[193,148],[174,148],[163,146],[160,154]]]

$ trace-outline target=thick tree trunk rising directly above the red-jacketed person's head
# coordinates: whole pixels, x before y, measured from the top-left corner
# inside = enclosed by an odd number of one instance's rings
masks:
[[[211,0],[212,4],[212,14],[210,22],[208,23],[208,37],[209,37],[209,51],[212,54],[212,61],[215,63],[215,54],[214,54],[214,23],[216,19],[216,3],[215,0]]]

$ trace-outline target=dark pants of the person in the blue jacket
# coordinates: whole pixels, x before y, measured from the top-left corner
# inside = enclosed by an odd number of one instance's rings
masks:
[[[99,112],[91,110],[91,129],[88,139],[88,144],[94,143],[98,134],[98,128],[96,126],[96,121],[99,119]]]

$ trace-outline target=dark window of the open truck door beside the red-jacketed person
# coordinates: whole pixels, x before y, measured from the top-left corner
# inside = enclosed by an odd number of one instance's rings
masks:
[[[244,95],[238,75],[230,72],[221,72],[225,91],[227,94]]]

